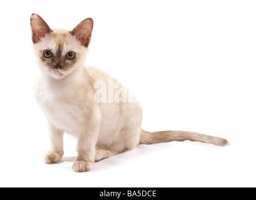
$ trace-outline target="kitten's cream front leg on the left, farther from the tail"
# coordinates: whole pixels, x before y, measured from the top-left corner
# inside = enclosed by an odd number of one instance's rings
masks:
[[[46,164],[57,163],[61,160],[64,150],[63,150],[63,134],[64,131],[56,128],[52,123],[49,125],[49,138],[51,146],[49,151],[47,151],[43,156],[43,161]]]

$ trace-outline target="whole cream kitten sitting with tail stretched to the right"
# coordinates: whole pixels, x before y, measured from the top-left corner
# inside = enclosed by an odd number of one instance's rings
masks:
[[[51,141],[45,163],[57,163],[63,157],[64,132],[78,138],[76,172],[90,171],[95,161],[138,144],[187,139],[220,146],[228,143],[187,131],[141,129],[142,110],[130,91],[100,69],[84,68],[93,19],[84,19],[68,31],[51,29],[38,14],[32,14],[31,29],[40,69],[34,95],[48,120]]]

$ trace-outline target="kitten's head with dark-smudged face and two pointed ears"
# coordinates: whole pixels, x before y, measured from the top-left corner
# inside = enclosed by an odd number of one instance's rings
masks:
[[[73,31],[50,29],[38,15],[31,15],[32,41],[41,69],[62,79],[83,67],[93,31],[93,19],[84,19]]]

